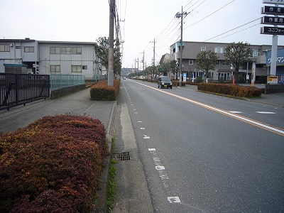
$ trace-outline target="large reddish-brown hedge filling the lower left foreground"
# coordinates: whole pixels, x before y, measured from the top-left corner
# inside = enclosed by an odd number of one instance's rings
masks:
[[[104,125],[87,116],[0,133],[0,212],[92,212],[107,154]]]

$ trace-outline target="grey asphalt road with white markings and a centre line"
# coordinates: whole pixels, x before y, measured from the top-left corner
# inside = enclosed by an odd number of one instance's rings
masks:
[[[123,80],[154,212],[284,212],[284,109]]]

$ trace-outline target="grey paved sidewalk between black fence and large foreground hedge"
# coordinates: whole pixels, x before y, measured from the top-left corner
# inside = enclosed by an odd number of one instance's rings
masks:
[[[68,94],[58,99],[43,99],[31,102],[26,106],[12,107],[0,111],[0,131],[15,131],[31,124],[43,116],[54,116],[55,114],[86,115],[99,119],[108,128],[111,111],[114,102],[94,102],[89,100],[89,89]]]

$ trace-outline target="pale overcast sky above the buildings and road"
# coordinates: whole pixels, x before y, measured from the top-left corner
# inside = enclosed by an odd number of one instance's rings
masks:
[[[185,41],[271,45],[272,35],[261,35],[264,25],[256,20],[263,16],[264,5],[268,4],[262,0],[116,0],[124,40],[122,67],[134,67],[137,58],[142,67],[143,51],[151,65],[154,38],[156,63],[170,53],[170,45],[180,39],[175,14],[182,6],[188,13],[183,21]],[[94,42],[109,36],[109,1],[1,0],[0,29],[0,38],[7,39]],[[283,35],[278,45],[284,45]]]

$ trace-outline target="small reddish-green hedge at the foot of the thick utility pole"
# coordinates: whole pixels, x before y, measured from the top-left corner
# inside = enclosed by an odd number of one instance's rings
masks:
[[[90,90],[93,101],[114,101],[119,96],[119,80],[114,80],[114,87],[108,85],[107,81],[94,84]]]

